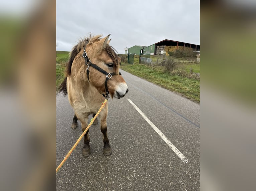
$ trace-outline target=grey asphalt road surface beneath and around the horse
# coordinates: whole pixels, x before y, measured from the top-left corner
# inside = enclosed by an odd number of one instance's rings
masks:
[[[103,155],[100,124],[90,128],[91,155],[84,141],[56,174],[56,190],[199,190],[200,105],[122,71],[129,93],[109,99],[110,156]],[[128,101],[130,99],[189,161],[183,162]],[[72,129],[68,97],[56,96],[56,167],[82,133]],[[89,116],[91,118],[91,116]]]

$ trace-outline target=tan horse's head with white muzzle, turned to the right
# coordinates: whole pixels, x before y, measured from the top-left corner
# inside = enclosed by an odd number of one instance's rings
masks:
[[[109,36],[110,35],[103,39],[97,36],[89,40],[89,43],[86,45],[87,57],[91,61],[87,62],[87,64],[90,65],[87,78],[91,85],[101,94],[105,94],[108,90],[112,97],[119,99],[127,94],[128,87],[125,80],[120,75],[121,73],[119,73],[121,59],[116,54],[115,50],[109,46],[111,40],[108,40]],[[94,65],[96,65],[96,67]],[[102,71],[99,70],[97,66],[102,69]]]

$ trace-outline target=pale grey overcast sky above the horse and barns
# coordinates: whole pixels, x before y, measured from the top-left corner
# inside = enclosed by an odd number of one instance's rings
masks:
[[[56,50],[71,51],[89,33],[111,34],[119,54],[164,39],[200,45],[200,1],[57,0]]]

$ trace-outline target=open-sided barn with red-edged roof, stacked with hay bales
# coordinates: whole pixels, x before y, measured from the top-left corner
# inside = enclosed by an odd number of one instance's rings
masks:
[[[175,50],[191,50],[200,52],[200,45],[165,39],[143,48],[143,53],[151,55],[168,55],[168,52]]]

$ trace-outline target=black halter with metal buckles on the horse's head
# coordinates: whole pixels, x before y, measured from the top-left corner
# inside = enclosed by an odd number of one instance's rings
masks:
[[[101,69],[100,67],[98,67],[97,65],[93,64],[90,59],[88,58],[87,56],[87,53],[85,52],[85,47],[84,47],[84,53],[83,53],[83,57],[85,59],[85,64],[88,66],[86,71],[87,71],[87,78],[88,78],[88,81],[90,82],[89,80],[89,67],[93,67],[95,68],[96,70],[98,70],[99,72],[103,73],[106,75],[106,81],[105,81],[105,88],[106,88],[106,95],[105,94],[102,94],[106,99],[109,98],[109,91],[108,91],[108,87],[107,87],[107,83],[108,83],[108,80],[114,76],[114,75],[118,75],[117,73],[113,72],[113,73],[107,73],[105,70]],[[122,75],[121,72],[119,72],[119,75]]]

